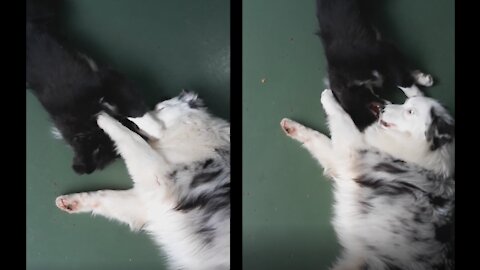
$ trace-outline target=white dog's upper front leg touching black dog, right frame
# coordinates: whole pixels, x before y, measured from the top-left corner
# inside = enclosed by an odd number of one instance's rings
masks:
[[[349,153],[362,143],[362,134],[352,118],[338,104],[330,89],[322,92],[321,102],[328,118],[332,145],[335,152]]]

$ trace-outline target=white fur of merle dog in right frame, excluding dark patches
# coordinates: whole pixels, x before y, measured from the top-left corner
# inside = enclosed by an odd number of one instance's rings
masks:
[[[331,139],[292,120],[281,121],[281,127],[285,133],[301,142],[302,146],[322,165],[325,173],[334,180],[333,225],[344,247],[341,259],[333,268],[335,270],[359,270],[363,269],[361,267],[365,263],[372,267],[369,269],[387,269],[384,262],[365,248],[365,243],[373,243],[377,251],[383,254],[394,254],[397,261],[407,262],[402,269],[424,269],[412,260],[418,251],[427,250],[426,252],[432,254],[440,254],[440,250],[436,250],[435,245],[428,246],[421,242],[412,245],[411,242],[403,238],[395,238],[397,236],[392,234],[392,228],[389,227],[391,221],[399,217],[410,217],[411,213],[405,209],[408,209],[408,205],[413,202],[400,201],[399,203],[403,203],[406,207],[395,207],[381,213],[375,212],[375,218],[366,218],[359,212],[361,209],[359,196],[365,193],[361,193],[354,179],[362,174],[358,164],[370,162],[368,157],[360,157],[361,149],[380,150],[412,166],[434,171],[446,178],[454,174],[454,141],[435,151],[430,151],[425,137],[426,129],[431,123],[429,111],[432,106],[438,106],[438,102],[419,96],[416,89],[406,89],[405,94],[412,97],[403,105],[386,105],[381,121],[367,128],[364,133],[358,131],[330,90],[322,93],[321,102],[328,117]],[[382,121],[390,126],[386,127]],[[378,172],[377,177],[384,176]],[[413,178],[410,180],[415,181]],[[420,186],[425,190],[428,188],[433,190],[429,186]],[[454,187],[446,186],[442,191],[452,194]],[[374,211],[385,209],[391,203],[385,198],[371,200],[372,204],[378,205]],[[438,215],[443,214],[440,209]],[[428,234],[431,232],[431,227],[428,226],[431,224],[418,225],[417,229],[424,230]],[[432,236],[429,235],[429,237]],[[393,246],[392,242],[395,242],[396,246]],[[432,255],[429,259],[437,262],[440,257]]]

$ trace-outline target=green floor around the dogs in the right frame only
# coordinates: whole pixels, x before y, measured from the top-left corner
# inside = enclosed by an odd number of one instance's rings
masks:
[[[434,75],[427,94],[454,115],[454,1],[371,2],[383,35]],[[330,225],[331,185],[279,127],[290,117],[327,132],[319,101],[326,64],[314,35],[314,5],[243,1],[244,269],[327,269],[339,254]],[[403,101],[400,91],[393,99]]]

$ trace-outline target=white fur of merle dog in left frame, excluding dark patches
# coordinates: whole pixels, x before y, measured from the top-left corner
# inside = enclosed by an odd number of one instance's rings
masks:
[[[133,230],[145,230],[168,255],[172,269],[229,269],[229,208],[228,213],[218,212],[209,219],[215,236],[205,244],[191,226],[202,213],[174,209],[185,187],[175,186],[168,174],[177,164],[214,156],[215,148],[229,149],[230,125],[203,109],[190,109],[177,98],[158,104],[146,118],[131,120],[158,140],[147,143],[107,114],[98,116],[99,127],[125,160],[134,187],[64,195],[57,198],[57,206],[69,213],[92,212],[126,223]]]

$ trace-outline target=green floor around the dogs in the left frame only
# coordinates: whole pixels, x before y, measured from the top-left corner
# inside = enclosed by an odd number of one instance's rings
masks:
[[[127,74],[154,105],[182,88],[200,94],[229,119],[229,1],[65,1],[71,40]],[[161,252],[142,233],[55,207],[64,193],[131,187],[122,161],[78,176],[72,151],[52,139],[48,115],[27,91],[27,269],[164,269]]]

